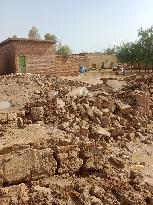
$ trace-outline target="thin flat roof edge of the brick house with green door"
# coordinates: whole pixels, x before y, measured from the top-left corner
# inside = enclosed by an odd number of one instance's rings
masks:
[[[29,38],[8,38],[0,43],[0,46],[3,46],[4,44],[10,43],[15,41],[21,41],[21,42],[37,42],[37,43],[50,43],[55,44],[54,41],[48,41],[48,40],[39,40],[39,39],[29,39]]]

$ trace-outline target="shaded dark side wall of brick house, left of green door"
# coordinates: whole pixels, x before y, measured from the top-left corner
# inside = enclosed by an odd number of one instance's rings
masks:
[[[0,74],[15,72],[15,52],[14,44],[4,44],[0,46]]]

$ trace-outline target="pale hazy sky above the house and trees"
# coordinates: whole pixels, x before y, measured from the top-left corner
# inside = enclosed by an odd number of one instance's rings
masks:
[[[153,0],[0,0],[0,41],[27,37],[35,25],[73,52],[102,51],[153,24]]]

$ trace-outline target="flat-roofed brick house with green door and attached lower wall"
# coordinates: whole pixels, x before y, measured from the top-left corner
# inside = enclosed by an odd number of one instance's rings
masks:
[[[34,73],[77,75],[80,65],[88,67],[81,56],[56,55],[55,43],[44,40],[9,38],[0,43],[0,74]]]

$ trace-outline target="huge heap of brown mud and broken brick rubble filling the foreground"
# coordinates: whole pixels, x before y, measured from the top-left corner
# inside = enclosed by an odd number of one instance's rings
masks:
[[[28,74],[0,82],[12,105],[0,110],[0,205],[153,204],[153,164],[135,153],[153,158],[153,76],[119,90]]]

